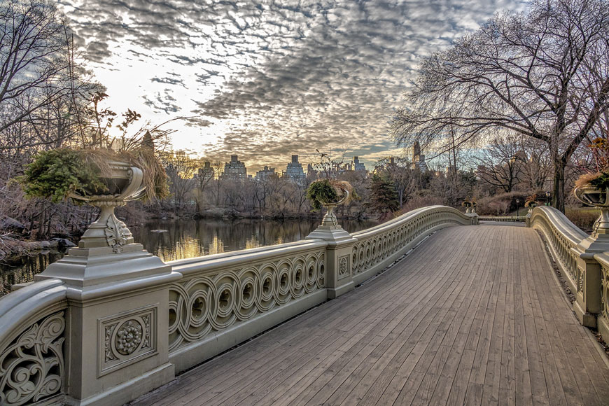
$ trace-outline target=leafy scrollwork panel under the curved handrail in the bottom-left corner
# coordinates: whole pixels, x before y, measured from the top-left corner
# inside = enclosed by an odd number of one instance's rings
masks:
[[[0,355],[0,405],[25,405],[59,393],[64,379],[64,311],[29,326]]]

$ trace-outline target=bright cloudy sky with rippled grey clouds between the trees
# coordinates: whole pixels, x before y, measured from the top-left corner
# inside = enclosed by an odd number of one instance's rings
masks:
[[[505,0],[59,0],[107,105],[171,123],[176,149],[250,173],[314,151],[368,167],[420,58]]]

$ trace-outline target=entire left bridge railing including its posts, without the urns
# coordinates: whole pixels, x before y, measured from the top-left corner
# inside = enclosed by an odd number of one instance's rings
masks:
[[[163,263],[140,244],[79,246],[0,298],[0,405],[121,405],[325,300],[436,230],[477,224],[435,206],[353,235]]]

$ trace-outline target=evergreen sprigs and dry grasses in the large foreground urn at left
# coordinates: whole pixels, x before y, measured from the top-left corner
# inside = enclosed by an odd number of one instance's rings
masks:
[[[99,102],[106,97],[102,92],[93,94],[88,118],[78,120],[79,145],[42,151],[34,156],[25,174],[18,178],[27,197],[41,197],[57,203],[71,198],[71,193],[82,196],[109,193],[104,178],[112,172],[111,162],[125,162],[142,169],[148,200],[169,195],[167,175],[155,154],[154,141],[165,139],[172,131],[160,130],[160,125],[145,125],[134,134],[127,134],[130,125],[140,118],[138,113],[127,110],[123,122],[118,125],[121,134],[111,137],[109,129],[116,113],[109,109],[99,110]]]

